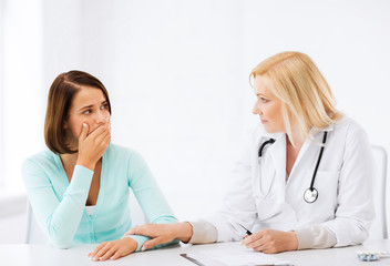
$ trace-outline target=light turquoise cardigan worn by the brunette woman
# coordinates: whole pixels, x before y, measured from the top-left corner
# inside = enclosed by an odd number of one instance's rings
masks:
[[[69,183],[60,156],[44,151],[24,161],[22,175],[38,224],[60,248],[121,238],[132,226],[129,188],[150,223],[177,222],[146,163],[130,149],[110,144],[103,154],[99,197],[92,215],[85,212],[91,170],[76,165]],[[140,235],[129,237],[137,242],[137,250],[150,239]]]

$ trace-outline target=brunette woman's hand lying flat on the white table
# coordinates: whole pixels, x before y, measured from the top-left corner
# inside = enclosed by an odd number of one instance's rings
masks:
[[[137,248],[137,243],[133,238],[123,237],[117,241],[103,242],[92,253],[89,254],[92,260],[116,259],[127,256]]]

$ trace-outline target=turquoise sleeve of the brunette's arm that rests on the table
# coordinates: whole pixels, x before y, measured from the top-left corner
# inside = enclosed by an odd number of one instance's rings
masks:
[[[160,191],[145,161],[135,152],[132,153],[129,161],[129,186],[133,190],[134,195],[150,223],[177,223],[176,217]],[[140,250],[142,245],[150,239],[148,237],[141,235],[130,235],[129,237],[137,242],[138,245],[136,250]],[[178,242],[174,241],[168,244],[174,243]]]

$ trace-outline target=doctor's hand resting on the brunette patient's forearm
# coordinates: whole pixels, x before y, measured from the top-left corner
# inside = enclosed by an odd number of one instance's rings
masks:
[[[189,223],[176,224],[145,224],[130,228],[125,235],[144,235],[152,239],[144,243],[141,250],[146,250],[155,245],[170,243],[174,239],[188,242],[193,235],[193,227]]]

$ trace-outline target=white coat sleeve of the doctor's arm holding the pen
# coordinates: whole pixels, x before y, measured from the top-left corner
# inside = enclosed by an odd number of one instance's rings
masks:
[[[358,245],[368,237],[374,217],[371,147],[366,132],[355,123],[345,134],[339,155],[342,162],[337,182],[335,218],[295,228],[299,249]]]

